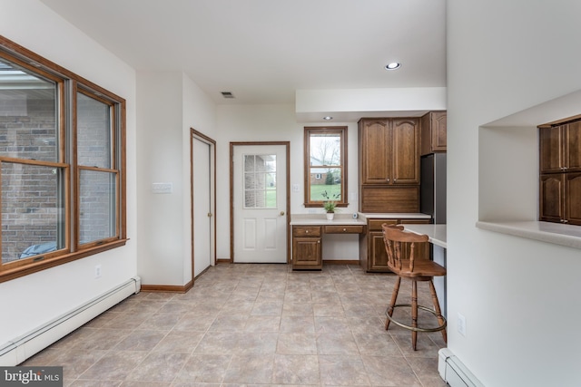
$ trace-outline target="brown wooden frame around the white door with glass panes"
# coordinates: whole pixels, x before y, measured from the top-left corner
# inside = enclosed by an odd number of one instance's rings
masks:
[[[234,262],[234,147],[264,145],[283,145],[287,154],[287,191],[286,191],[286,237],[287,237],[287,265],[291,263],[291,141],[231,141],[230,142],[230,263]]]

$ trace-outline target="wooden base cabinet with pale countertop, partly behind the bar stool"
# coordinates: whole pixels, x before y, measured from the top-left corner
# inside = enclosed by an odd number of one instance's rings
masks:
[[[388,225],[401,224],[429,224],[429,219],[368,219],[368,232],[361,236],[359,240],[359,264],[368,273],[389,273],[388,255],[385,251],[385,243],[383,242],[383,232],[381,225],[384,223]],[[403,247],[405,248],[405,247]],[[422,256],[430,256],[429,243],[425,243],[422,247],[416,247],[417,254]],[[406,254],[406,252],[403,252]]]

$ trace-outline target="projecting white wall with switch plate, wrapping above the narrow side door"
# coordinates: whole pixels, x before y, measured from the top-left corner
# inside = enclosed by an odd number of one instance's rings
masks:
[[[138,272],[143,285],[181,286],[192,280],[190,129],[212,138],[215,108],[181,72],[138,72],[137,96]],[[155,182],[172,192],[154,194]]]

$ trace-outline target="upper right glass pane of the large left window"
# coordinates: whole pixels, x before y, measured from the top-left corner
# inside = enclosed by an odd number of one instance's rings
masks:
[[[111,168],[111,109],[77,93],[77,157],[79,165]]]

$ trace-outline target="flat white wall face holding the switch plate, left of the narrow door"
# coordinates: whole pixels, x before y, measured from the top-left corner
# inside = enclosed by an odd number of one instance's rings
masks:
[[[182,73],[137,73],[137,99],[138,273],[143,285],[183,285]],[[172,192],[155,194],[153,183]]]

